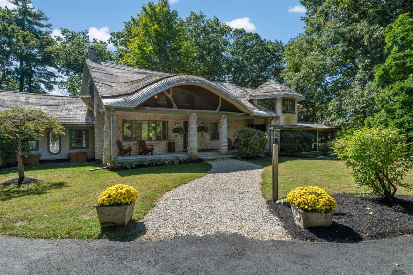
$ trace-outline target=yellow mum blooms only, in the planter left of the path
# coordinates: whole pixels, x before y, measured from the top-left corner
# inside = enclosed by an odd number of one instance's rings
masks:
[[[115,206],[131,204],[138,198],[138,192],[132,186],[117,184],[108,187],[99,196],[99,204],[105,206]]]

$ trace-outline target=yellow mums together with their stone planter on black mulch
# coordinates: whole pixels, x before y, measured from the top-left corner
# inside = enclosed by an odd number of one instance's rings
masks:
[[[297,187],[287,195],[294,221],[301,228],[330,226],[337,207],[335,200],[318,186]]]

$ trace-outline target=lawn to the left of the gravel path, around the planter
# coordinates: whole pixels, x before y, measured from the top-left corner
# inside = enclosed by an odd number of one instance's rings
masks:
[[[145,232],[138,222],[165,192],[210,170],[207,163],[157,166],[116,172],[90,169],[95,163],[40,164],[25,167],[39,183],[0,187],[0,235],[30,238],[136,238]],[[17,168],[0,170],[0,183],[17,178]],[[99,194],[123,183],[138,190],[130,224],[102,229],[96,210]]]

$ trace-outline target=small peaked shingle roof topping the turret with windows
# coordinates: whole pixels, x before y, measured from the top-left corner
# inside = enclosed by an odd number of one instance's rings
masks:
[[[292,97],[297,100],[303,100],[304,96],[296,91],[276,82],[268,81],[259,86],[255,91],[249,94],[248,99],[270,99],[277,97]]]

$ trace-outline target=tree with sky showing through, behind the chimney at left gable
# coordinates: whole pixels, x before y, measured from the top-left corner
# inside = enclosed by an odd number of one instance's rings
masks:
[[[107,50],[108,43],[96,39],[90,41],[86,30],[76,32],[63,28],[61,34],[61,37],[56,37],[55,53],[58,73],[63,77],[58,86],[70,96],[78,96],[82,85],[83,64],[85,58],[88,58],[89,46],[97,49],[98,60],[102,62],[113,62],[114,54]]]

